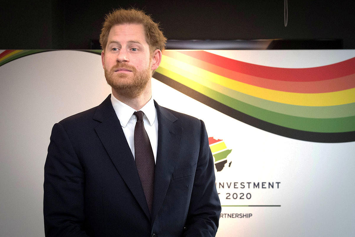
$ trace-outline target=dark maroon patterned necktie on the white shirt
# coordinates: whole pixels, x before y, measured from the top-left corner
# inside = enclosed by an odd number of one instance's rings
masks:
[[[134,153],[135,161],[141,179],[144,195],[146,196],[149,212],[152,213],[153,187],[154,187],[154,155],[146,129],[144,129],[142,111],[133,113],[137,116],[134,128]]]

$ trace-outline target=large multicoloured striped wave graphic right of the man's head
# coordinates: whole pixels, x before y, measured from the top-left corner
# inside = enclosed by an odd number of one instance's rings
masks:
[[[315,68],[275,68],[203,50],[165,50],[154,78],[274,134],[355,141],[355,58]]]

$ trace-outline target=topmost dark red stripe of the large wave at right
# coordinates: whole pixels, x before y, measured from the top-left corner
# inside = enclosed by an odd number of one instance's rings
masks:
[[[275,68],[245,63],[205,51],[179,52],[235,72],[278,81],[321,81],[355,74],[355,57],[315,68]]]

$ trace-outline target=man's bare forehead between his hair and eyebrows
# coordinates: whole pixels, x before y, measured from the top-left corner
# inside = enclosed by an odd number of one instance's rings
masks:
[[[108,39],[115,40],[134,40],[142,41],[141,43],[147,43],[143,25],[125,23],[120,25],[114,25],[111,27]]]

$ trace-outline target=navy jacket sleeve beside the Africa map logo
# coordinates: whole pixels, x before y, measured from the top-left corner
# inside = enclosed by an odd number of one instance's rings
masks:
[[[184,236],[215,236],[221,205],[215,187],[214,162],[201,120],[201,145]]]

